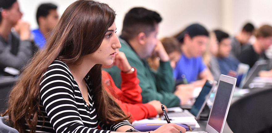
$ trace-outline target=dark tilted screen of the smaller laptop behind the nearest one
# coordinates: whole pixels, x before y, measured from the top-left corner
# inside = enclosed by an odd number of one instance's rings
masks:
[[[196,98],[196,102],[192,106],[192,109],[190,109],[190,113],[196,116],[198,112],[200,111],[203,103],[206,100],[207,95],[209,94],[210,90],[212,88],[212,84],[210,84],[208,81],[204,84],[201,92],[199,93],[199,96]]]

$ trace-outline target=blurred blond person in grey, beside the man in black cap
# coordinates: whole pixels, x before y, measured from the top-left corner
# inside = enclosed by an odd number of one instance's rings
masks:
[[[218,54],[218,40],[214,32],[210,32],[209,35],[209,42],[206,46],[205,52],[202,54],[202,58],[203,62],[211,71],[214,80],[218,81],[221,74],[216,58]]]

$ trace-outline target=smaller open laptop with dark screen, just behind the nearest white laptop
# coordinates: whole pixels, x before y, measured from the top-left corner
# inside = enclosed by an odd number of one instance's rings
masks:
[[[192,106],[192,108],[190,109],[190,111],[188,110],[183,110],[183,112],[168,112],[168,117],[171,118],[176,118],[176,117],[188,117],[188,116],[192,116],[194,117],[196,120],[200,119],[200,114],[202,112],[202,110],[204,109],[208,98],[210,96],[210,94],[212,93],[212,90],[215,88],[216,86],[216,81],[211,81],[211,80],[207,80],[206,83],[204,84],[202,90],[199,93],[199,96],[196,98],[196,101],[194,103],[194,105]]]

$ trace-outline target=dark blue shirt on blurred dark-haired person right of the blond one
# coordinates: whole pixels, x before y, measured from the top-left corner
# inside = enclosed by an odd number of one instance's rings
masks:
[[[236,71],[238,64],[240,63],[234,57],[217,58],[221,74],[227,75],[229,70]]]

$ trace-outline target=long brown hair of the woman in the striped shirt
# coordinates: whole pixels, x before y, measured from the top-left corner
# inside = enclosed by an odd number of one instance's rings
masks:
[[[15,129],[25,132],[27,123],[31,133],[35,132],[38,115],[43,116],[39,107],[39,84],[47,67],[55,59],[77,64],[82,56],[95,52],[114,23],[115,16],[107,4],[91,0],[78,0],[68,6],[53,29],[46,48],[35,54],[10,93],[7,113]],[[101,67],[96,64],[88,73],[93,83],[97,113],[105,124],[119,123],[128,116],[103,88]]]

